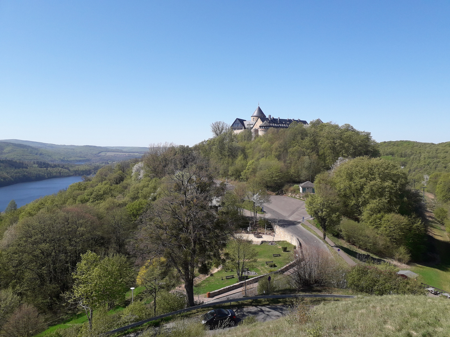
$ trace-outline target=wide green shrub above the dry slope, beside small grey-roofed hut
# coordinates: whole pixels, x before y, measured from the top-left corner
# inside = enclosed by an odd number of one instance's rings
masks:
[[[396,274],[397,270],[385,264],[353,266],[347,274],[348,287],[353,291],[372,295],[424,293],[420,282],[404,279]]]

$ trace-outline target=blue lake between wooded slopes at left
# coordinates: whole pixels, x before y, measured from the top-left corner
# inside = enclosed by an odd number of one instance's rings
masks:
[[[60,177],[37,182],[19,182],[18,184],[0,187],[0,211],[3,212],[11,200],[17,207],[28,204],[44,195],[58,193],[74,182],[81,182],[82,177]]]

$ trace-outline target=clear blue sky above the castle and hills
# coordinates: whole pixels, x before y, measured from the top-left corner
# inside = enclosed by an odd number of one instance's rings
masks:
[[[0,139],[193,145],[215,120],[450,141],[448,1],[0,0]]]

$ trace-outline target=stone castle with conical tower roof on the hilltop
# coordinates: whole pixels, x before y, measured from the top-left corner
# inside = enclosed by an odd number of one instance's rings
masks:
[[[252,135],[255,137],[256,135],[266,134],[269,129],[288,128],[288,126],[293,122],[302,123],[305,126],[309,125],[306,120],[293,120],[290,118],[284,120],[279,117],[274,118],[271,115],[266,117],[258,104],[258,107],[255,112],[253,112],[250,120],[236,118],[233,124],[231,124],[231,129],[233,129],[234,133],[240,133],[245,129],[249,129],[252,130]]]

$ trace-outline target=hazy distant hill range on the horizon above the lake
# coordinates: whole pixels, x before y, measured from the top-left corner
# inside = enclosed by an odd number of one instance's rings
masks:
[[[112,163],[140,158],[148,149],[132,146],[57,145],[20,139],[0,140],[0,159],[43,160],[49,163]]]

